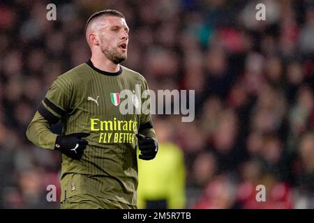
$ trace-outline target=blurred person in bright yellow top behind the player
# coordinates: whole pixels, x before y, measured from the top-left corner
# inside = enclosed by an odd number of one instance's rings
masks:
[[[138,208],[184,208],[185,167],[184,154],[173,144],[172,127],[158,120],[154,129],[158,134],[158,155],[150,162],[138,160]]]

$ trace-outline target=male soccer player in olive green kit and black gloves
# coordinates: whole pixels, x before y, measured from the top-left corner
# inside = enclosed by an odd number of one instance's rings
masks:
[[[120,65],[128,31],[117,10],[91,15],[91,59],[55,79],[27,129],[33,144],[63,154],[61,208],[137,208],[136,146],[151,160],[158,144],[149,113],[119,110],[121,91],[135,92],[136,84],[148,90],[142,75]],[[130,98],[135,107],[149,100]],[[62,134],[54,134],[50,125],[60,119]]]

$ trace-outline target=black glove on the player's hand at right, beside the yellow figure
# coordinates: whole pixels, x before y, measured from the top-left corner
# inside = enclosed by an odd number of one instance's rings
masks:
[[[158,152],[157,142],[153,138],[139,133],[136,134],[136,137],[138,139],[138,148],[141,151],[138,157],[142,160],[153,160]]]

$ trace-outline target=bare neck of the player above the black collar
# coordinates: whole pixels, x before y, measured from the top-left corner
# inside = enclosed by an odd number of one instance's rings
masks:
[[[107,59],[103,52],[91,52],[91,62],[96,68],[106,72],[118,72],[120,70],[119,64]]]

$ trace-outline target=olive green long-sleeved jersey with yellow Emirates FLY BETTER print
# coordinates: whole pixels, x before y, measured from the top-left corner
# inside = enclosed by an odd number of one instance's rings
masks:
[[[90,133],[84,138],[89,144],[81,160],[62,155],[61,201],[75,194],[91,194],[136,206],[135,134],[140,130],[156,139],[151,114],[138,112],[149,102],[149,95],[142,98],[145,90],[147,82],[139,73],[124,66],[119,72],[105,72],[91,61],[55,79],[29,125],[27,137],[40,147],[54,149],[57,134],[47,128],[60,119],[62,134]],[[125,114],[121,107],[132,112]]]

